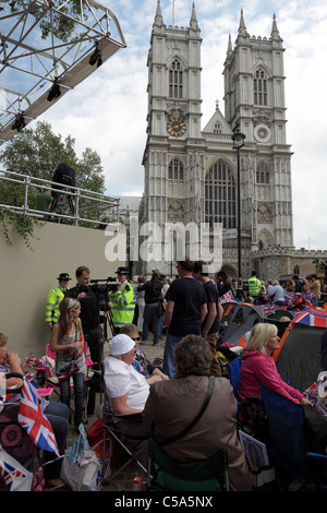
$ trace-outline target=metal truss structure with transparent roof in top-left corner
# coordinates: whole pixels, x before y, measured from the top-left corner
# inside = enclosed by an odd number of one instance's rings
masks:
[[[117,16],[95,0],[0,2],[0,144],[121,48]]]

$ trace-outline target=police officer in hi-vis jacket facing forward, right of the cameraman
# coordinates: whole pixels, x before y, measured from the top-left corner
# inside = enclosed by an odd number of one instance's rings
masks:
[[[126,267],[118,267],[116,274],[119,286],[117,290],[110,290],[108,303],[114,327],[113,335],[118,333],[122,326],[133,322],[136,305],[134,287],[132,287],[128,281],[129,270]]]

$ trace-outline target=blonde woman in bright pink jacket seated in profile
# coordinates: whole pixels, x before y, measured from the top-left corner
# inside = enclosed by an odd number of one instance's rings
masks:
[[[279,347],[278,329],[275,324],[259,322],[251,331],[246,350],[242,356],[238,395],[244,401],[249,395],[261,395],[261,385],[288,397],[293,403],[308,404],[299,390],[287,384],[279,375],[271,357]]]

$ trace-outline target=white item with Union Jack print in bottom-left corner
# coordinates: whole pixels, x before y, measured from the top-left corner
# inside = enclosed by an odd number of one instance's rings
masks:
[[[31,491],[33,474],[0,445],[0,491]]]

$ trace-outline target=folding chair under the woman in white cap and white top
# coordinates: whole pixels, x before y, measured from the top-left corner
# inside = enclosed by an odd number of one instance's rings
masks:
[[[120,420],[131,420],[140,421],[142,419],[142,414],[131,414],[131,415],[113,415],[109,398],[107,395],[107,387],[105,382],[105,372],[104,365],[101,366],[101,375],[102,375],[102,389],[104,389],[104,405],[102,405],[102,484],[108,484],[119,473],[121,473],[128,465],[132,462],[136,463],[137,466],[147,475],[147,468],[142,463],[140,456],[144,453],[146,444],[144,443],[150,437],[149,433],[140,433],[140,430],[135,432],[125,431],[120,427]],[[140,422],[141,423],[141,422]],[[106,461],[107,445],[109,442],[109,454],[108,460]],[[128,458],[113,470],[116,465],[116,455],[117,449],[121,450]]]

